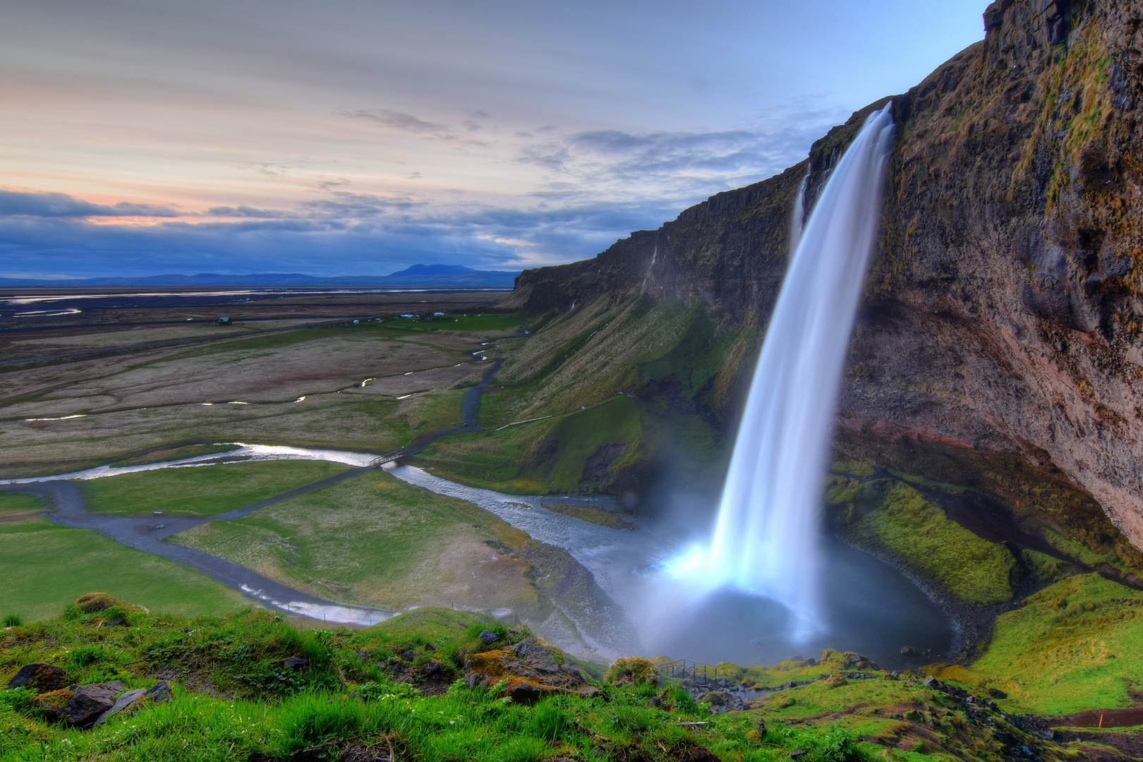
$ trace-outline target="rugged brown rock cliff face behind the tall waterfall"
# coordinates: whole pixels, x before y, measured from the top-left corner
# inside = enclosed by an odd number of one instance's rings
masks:
[[[999,0],[984,21],[983,42],[893,99],[839,447],[935,443],[1004,492],[999,459],[1025,474],[1017,502],[1036,500],[1030,481],[1070,481],[1143,547],[1143,3]],[[645,294],[765,324],[799,184],[809,171],[812,203],[879,105],[776,177],[594,259],[526,271],[509,304]]]

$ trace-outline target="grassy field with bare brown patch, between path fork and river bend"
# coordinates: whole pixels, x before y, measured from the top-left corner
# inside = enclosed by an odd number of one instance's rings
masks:
[[[235,521],[195,527],[171,542],[335,601],[534,610],[536,592],[522,576],[525,567],[494,558],[485,545],[511,543],[514,532],[472,503],[376,470]]]

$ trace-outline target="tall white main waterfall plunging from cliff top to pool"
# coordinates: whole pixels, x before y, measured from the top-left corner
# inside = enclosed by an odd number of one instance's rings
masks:
[[[893,135],[889,106],[870,115],[800,231],[703,560],[708,585],[791,609],[796,639],[821,627],[816,516]]]

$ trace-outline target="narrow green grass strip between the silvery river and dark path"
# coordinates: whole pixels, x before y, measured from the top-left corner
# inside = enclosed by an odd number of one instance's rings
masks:
[[[262,460],[159,468],[80,482],[88,511],[135,515],[163,511],[216,516],[346,470],[326,460]]]

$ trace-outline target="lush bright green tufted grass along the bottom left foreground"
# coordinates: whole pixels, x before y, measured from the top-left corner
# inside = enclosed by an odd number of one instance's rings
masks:
[[[425,762],[709,759],[692,756],[698,747],[742,762],[786,760],[796,748],[807,762],[910,759],[880,755],[879,747],[830,728],[774,724],[759,732],[753,717],[711,716],[673,689],[664,693],[669,708],[648,706],[658,693],[649,685],[600,685],[594,698],[557,695],[526,706],[502,698],[499,687],[456,681],[433,696],[393,681],[390,665],[408,673],[435,663],[446,680],[462,674],[466,652],[490,648],[471,626],[434,637],[383,628],[299,633],[267,613],[187,620],[134,612],[126,626],[97,628],[99,619],[72,607],[49,625],[0,632],[0,680],[19,664],[43,660],[67,669],[69,681],[114,676],[129,688],[177,667],[207,690],[176,683],[169,701],[144,704],[90,731],[45,722],[27,689],[0,691],[0,759],[390,759],[389,749]],[[281,659],[294,655],[309,658],[309,668],[285,669]]]

